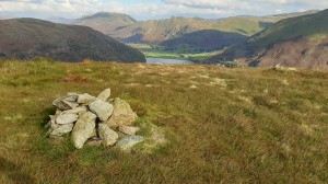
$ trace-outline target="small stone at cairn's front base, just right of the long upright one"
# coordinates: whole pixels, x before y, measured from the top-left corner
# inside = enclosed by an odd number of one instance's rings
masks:
[[[98,125],[98,133],[104,147],[113,146],[117,142],[118,134],[112,130],[106,124]]]

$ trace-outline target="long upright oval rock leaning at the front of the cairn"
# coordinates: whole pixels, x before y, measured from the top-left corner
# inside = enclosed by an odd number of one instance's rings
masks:
[[[96,115],[91,112],[86,112],[79,117],[71,135],[75,148],[81,149],[85,141],[92,137],[95,120]]]

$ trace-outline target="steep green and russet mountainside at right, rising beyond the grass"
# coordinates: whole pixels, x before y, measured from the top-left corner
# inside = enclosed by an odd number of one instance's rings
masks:
[[[210,62],[237,60],[248,66],[328,68],[328,10],[282,20],[237,44]]]

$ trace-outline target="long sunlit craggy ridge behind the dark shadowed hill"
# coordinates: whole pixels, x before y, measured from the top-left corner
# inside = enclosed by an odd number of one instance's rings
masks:
[[[204,30],[250,36],[276,23],[277,19],[236,16],[222,20],[200,18],[172,18],[166,20],[142,21],[115,30],[110,35],[125,43],[162,43],[181,37],[185,34]]]

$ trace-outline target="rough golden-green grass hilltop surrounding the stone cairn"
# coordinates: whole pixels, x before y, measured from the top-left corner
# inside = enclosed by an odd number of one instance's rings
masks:
[[[75,150],[45,137],[56,96],[106,88],[167,145]],[[1,61],[0,183],[327,183],[327,71]]]

